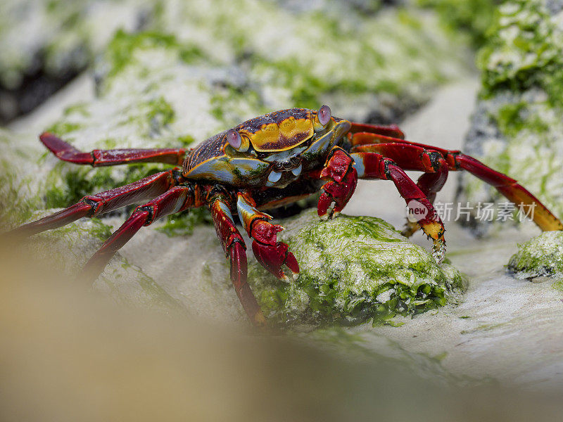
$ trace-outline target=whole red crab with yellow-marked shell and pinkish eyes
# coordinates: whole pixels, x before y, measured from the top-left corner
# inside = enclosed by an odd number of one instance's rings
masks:
[[[56,157],[75,164],[98,167],[164,162],[182,165],[182,169],[175,167],[127,186],[85,196],[75,205],[20,226],[11,234],[30,236],[81,217],[94,217],[148,200],[87,262],[81,279],[91,283],[142,226],[165,215],[205,205],[230,259],[236,294],[253,324],[259,326],[265,325],[266,320],[246,283],[246,245],[234,223],[234,212],[253,239],[252,249],[258,262],[279,279],[296,276],[299,265],[288,246],[277,241],[277,232],[283,228],[272,224],[272,217],[263,211],[321,191],[318,214],[334,218],[348,203],[358,178],[391,180],[407,203],[417,201],[424,211],[422,217],[417,222],[407,222],[403,234],[410,236],[422,229],[434,242],[438,262],[445,253],[445,229],[432,203],[449,171],[467,170],[495,186],[512,202],[535,205],[533,219],[541,229],[563,229],[555,215],[505,174],[460,151],[405,141],[403,132],[395,125],[360,124],[334,117],[328,106],[319,110],[291,108],[255,117],[191,149],[85,153],[53,134],[44,133],[40,139]],[[424,174],[415,183],[405,170]]]

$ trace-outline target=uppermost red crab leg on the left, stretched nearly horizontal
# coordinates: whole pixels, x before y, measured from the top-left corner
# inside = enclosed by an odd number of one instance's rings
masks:
[[[59,160],[75,164],[88,164],[92,167],[127,164],[129,162],[165,162],[172,165],[181,165],[187,151],[186,148],[156,148],[94,150],[84,153],[48,132],[39,136],[39,139]]]

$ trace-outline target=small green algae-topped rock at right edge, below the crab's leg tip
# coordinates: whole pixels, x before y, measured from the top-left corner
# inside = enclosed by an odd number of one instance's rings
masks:
[[[538,276],[563,276],[563,231],[545,231],[518,245],[508,269],[520,279]]]

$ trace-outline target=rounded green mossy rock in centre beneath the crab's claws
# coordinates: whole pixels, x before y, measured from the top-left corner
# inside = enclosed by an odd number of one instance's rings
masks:
[[[283,224],[279,239],[299,262],[298,279],[279,281],[257,263],[248,276],[262,309],[279,323],[377,323],[445,305],[464,288],[459,271],[436,264],[381,219],[322,222],[310,210]]]

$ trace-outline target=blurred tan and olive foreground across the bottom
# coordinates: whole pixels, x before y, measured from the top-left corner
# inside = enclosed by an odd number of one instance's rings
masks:
[[[115,306],[0,245],[2,421],[555,421],[559,392],[418,378],[298,339]]]

